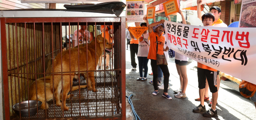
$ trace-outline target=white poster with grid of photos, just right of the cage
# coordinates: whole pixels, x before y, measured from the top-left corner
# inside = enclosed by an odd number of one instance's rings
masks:
[[[144,22],[144,0],[126,0],[127,22]]]

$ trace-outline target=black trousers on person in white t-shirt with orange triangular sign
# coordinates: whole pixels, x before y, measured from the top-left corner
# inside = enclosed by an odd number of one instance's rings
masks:
[[[140,77],[143,77],[142,66],[144,66],[144,77],[146,78],[148,75],[148,58],[147,57],[138,57],[138,61],[139,61]]]

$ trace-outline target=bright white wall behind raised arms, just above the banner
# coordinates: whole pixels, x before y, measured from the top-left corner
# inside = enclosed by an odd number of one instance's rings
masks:
[[[209,11],[209,7],[208,6],[205,6],[206,9]],[[204,8],[204,12],[207,13],[207,10]],[[184,17],[186,18],[186,10],[181,10]],[[205,14],[203,11],[202,11],[202,15]],[[191,25],[193,26],[204,26],[202,21],[197,18],[197,10],[187,10],[187,13],[188,13],[188,21],[190,22]],[[180,14],[177,14],[177,22],[178,21],[182,21],[182,18],[180,16]]]

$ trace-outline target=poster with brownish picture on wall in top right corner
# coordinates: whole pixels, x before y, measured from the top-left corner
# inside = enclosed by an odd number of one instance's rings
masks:
[[[243,0],[240,11],[239,27],[256,28],[256,0]]]

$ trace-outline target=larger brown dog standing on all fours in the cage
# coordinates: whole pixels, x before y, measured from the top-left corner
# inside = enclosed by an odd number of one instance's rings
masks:
[[[95,48],[96,43],[96,48]],[[100,56],[104,52],[104,44],[105,48],[112,49],[112,44],[108,43],[107,39],[104,39],[102,35],[98,35],[95,40],[92,40],[90,43],[88,43],[88,49],[86,47],[79,47],[79,70],[80,71],[87,71],[87,61],[88,61],[88,71],[95,71],[96,63],[98,63]],[[88,52],[88,54],[87,54]],[[71,57],[69,57],[71,56]],[[87,60],[88,57],[88,60]],[[62,64],[61,64],[62,61]],[[71,65],[70,65],[71,61]],[[61,71],[62,66],[62,71]],[[71,69],[70,69],[71,67]],[[68,110],[69,107],[66,106],[66,98],[68,95],[68,92],[70,91],[70,85],[73,84],[73,78],[75,73],[78,73],[78,48],[73,48],[67,51],[62,52],[61,54],[58,54],[54,59],[54,80],[52,80],[52,75],[50,77],[50,86],[51,90],[54,88],[54,95],[56,99],[56,106],[62,106],[62,103],[60,102],[60,92],[62,90],[62,80],[61,80],[61,72],[70,72],[74,71],[74,73],[62,73],[63,76],[63,108],[64,110]],[[80,72],[84,73],[85,78],[87,77],[86,72]],[[72,78],[72,79],[70,79]],[[95,89],[95,79],[94,79],[94,72],[88,72],[88,90],[92,90],[93,92],[96,92]],[[91,87],[90,87],[91,85]]]

